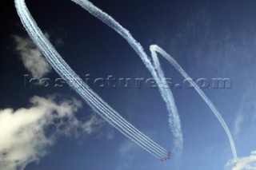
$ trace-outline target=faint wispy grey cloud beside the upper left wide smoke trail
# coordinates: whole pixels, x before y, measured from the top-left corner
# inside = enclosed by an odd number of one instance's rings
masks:
[[[49,34],[46,34],[46,37],[49,38]],[[50,73],[50,64],[29,38],[21,38],[17,35],[14,35],[13,38],[23,65],[31,73],[32,77],[40,79]]]

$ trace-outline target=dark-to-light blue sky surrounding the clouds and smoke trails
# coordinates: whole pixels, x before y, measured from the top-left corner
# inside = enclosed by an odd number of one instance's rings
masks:
[[[256,71],[256,24],[253,0],[238,1],[91,1],[110,14],[140,42],[146,53],[157,44],[170,53],[183,69],[195,79],[230,78],[231,89],[203,89],[224,117],[234,135],[238,156],[256,150],[256,111],[254,92]],[[28,106],[30,97],[60,93],[78,97],[70,89],[24,88],[26,69],[14,50],[12,35],[26,36],[14,9],[14,2],[2,6],[0,77],[1,109]],[[9,3],[9,4],[8,4]],[[130,45],[114,30],[105,26],[86,10],[71,1],[27,0],[31,14],[43,31],[50,34],[58,52],[82,78],[145,77],[150,73]],[[61,38],[63,45],[54,40]],[[166,77],[182,83],[182,76],[160,57]],[[46,77],[57,78],[53,72]],[[187,84],[186,84],[187,85]],[[92,86],[106,102],[165,148],[172,148],[173,136],[167,122],[166,106],[158,89],[99,89]],[[226,133],[214,114],[193,89],[173,88],[184,136],[184,152],[180,169],[223,169],[232,152]],[[81,100],[81,99],[80,99]],[[83,103],[77,117],[90,114]],[[238,115],[245,117],[234,134]],[[254,120],[255,119],[255,120]],[[109,125],[110,126],[110,125]],[[109,127],[111,128],[111,127]],[[111,140],[95,136],[62,137],[49,154],[26,170],[68,169],[174,169],[172,160],[162,163],[116,130]],[[132,142],[131,142],[132,143]],[[125,156],[122,146],[130,146]],[[128,165],[127,165],[128,164]]]

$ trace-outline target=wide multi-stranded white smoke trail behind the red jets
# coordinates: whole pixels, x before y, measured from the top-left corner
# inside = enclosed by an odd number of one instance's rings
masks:
[[[30,37],[38,45],[39,49],[46,56],[50,64],[53,65],[54,69],[68,82],[68,84],[73,87],[82,98],[92,107],[99,115],[101,115],[106,121],[115,128],[118,128],[125,136],[134,140],[142,148],[146,149],[152,155],[162,158],[166,156],[166,150],[160,147],[154,141],[150,140],[148,137],[139,132],[138,129],[130,125],[125,121],[118,113],[114,112],[105,101],[102,101],[100,97],[90,89],[79,77],[70,69],[69,65],[62,60],[62,57],[56,52],[54,47],[48,42],[48,40],[43,36],[42,31],[39,30],[38,26],[31,17],[29,11],[26,8],[26,4],[22,0],[15,1],[18,14],[22,19],[23,25],[30,34]],[[122,123],[120,123],[120,120]],[[160,156],[160,157],[159,157]]]

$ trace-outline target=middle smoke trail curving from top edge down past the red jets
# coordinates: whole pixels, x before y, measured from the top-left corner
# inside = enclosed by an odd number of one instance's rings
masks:
[[[98,18],[102,22],[104,22],[107,26],[114,29],[118,34],[120,34],[126,41],[130,44],[130,46],[138,53],[138,56],[141,57],[143,63],[146,65],[146,68],[150,70],[150,73],[154,77],[154,80],[158,83],[160,87],[161,82],[164,80],[160,80],[161,77],[158,76],[158,73],[155,71],[154,65],[152,65],[150,58],[146,55],[142,45],[138,43],[130,34],[128,30],[123,28],[118,22],[111,18],[110,15],[106,14],[102,10],[98,9],[97,6],[94,6],[91,2],[87,0],[71,0],[78,5],[82,6],[85,10],[90,12],[90,14],[94,15],[94,17]],[[174,134],[174,152],[177,153],[177,156],[181,156],[182,148],[183,148],[183,137],[182,137],[182,128],[180,119],[178,116],[178,109],[174,102],[174,97],[170,89],[162,89],[159,88],[162,98],[166,102],[166,107],[169,112],[169,124],[171,131]]]

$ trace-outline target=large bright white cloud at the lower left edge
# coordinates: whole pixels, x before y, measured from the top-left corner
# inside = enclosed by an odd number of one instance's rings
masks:
[[[58,136],[98,132],[96,116],[78,121],[74,113],[82,106],[76,99],[32,97],[30,108],[0,109],[0,169],[23,169],[46,156]],[[80,132],[81,134],[81,132]]]

